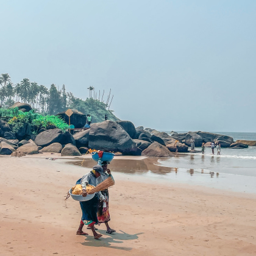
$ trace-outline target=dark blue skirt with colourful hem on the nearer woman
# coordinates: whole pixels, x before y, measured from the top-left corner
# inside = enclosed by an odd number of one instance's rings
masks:
[[[96,195],[89,201],[80,202],[80,207],[82,210],[81,223],[83,222],[89,227],[93,226],[94,224],[98,224],[98,197]]]

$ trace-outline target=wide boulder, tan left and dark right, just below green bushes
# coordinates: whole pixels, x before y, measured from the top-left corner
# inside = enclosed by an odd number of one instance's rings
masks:
[[[51,129],[41,132],[35,137],[35,144],[41,147],[49,146],[49,144],[58,142],[60,144],[76,144],[73,135],[69,132],[62,132],[60,129]]]

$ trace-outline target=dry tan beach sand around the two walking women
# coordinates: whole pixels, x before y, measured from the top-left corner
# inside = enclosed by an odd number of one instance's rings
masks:
[[[39,156],[39,157],[38,157]],[[54,155],[49,155],[54,157]],[[41,157],[41,158],[40,158]],[[46,155],[0,157],[0,244],[5,255],[256,255],[256,197],[115,174],[110,227],[76,235],[81,210],[65,196],[90,171]]]

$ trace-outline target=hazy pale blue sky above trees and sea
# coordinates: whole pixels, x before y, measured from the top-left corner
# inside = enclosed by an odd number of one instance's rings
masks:
[[[0,74],[158,130],[255,132],[256,1],[0,0]]]

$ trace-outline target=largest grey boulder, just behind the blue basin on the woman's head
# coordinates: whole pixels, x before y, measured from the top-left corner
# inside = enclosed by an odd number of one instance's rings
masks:
[[[136,144],[119,124],[104,121],[91,126],[89,148],[132,154],[136,151]]]

